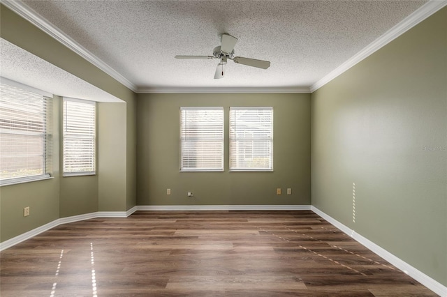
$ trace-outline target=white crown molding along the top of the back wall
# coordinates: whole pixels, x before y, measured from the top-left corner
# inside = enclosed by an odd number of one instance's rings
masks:
[[[311,93],[309,87],[291,87],[291,88],[212,88],[212,87],[191,87],[191,88],[139,88],[136,93]]]

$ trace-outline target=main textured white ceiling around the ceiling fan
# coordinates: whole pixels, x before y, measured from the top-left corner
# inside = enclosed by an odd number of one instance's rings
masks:
[[[139,91],[197,88],[308,89],[426,1],[23,1]],[[235,55],[268,70],[218,60],[219,33]]]

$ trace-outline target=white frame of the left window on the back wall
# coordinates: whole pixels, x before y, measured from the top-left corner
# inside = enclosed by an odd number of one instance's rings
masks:
[[[221,112],[221,136],[220,137],[204,137],[205,141],[212,142],[220,142],[221,143],[221,151],[220,151],[220,166],[219,167],[186,167],[184,164],[184,145],[186,144],[186,135],[184,135],[184,129],[182,128],[182,112],[187,110],[215,110]],[[219,119],[220,120],[220,119]],[[180,172],[223,172],[225,167],[225,111],[223,107],[180,107],[179,110],[179,169]],[[200,140],[197,139],[196,140]]]

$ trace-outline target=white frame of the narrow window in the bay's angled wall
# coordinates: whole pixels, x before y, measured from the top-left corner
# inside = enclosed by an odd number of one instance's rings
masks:
[[[89,134],[89,133],[85,133],[85,135],[70,135],[70,133],[67,132],[66,130],[66,102],[75,102],[78,104],[82,104],[82,105],[91,105],[94,107],[94,116],[93,116],[93,125],[92,128],[94,130],[93,135]],[[67,103],[68,104],[68,103]],[[91,100],[82,100],[82,99],[78,99],[78,98],[68,98],[68,97],[64,97],[62,99],[62,121],[61,121],[61,136],[62,136],[62,176],[64,177],[70,177],[70,176],[94,176],[96,175],[96,170],[97,170],[97,166],[98,166],[98,162],[97,162],[97,116],[98,116],[98,108],[96,105],[95,101],[91,101]],[[88,123],[87,121],[85,123]],[[93,155],[90,156],[90,158],[85,158],[83,160],[90,160],[90,162],[93,163],[93,166],[91,166],[90,168],[92,168],[93,170],[86,170],[86,171],[71,171],[68,172],[67,171],[67,167],[66,167],[66,140],[67,139],[89,139],[92,143],[91,147],[93,148]]]

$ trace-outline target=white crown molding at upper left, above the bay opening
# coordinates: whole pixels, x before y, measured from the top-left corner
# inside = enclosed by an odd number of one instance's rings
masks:
[[[22,1],[1,0],[1,3],[3,3],[3,5],[10,10],[13,10],[13,12],[17,13],[17,15],[23,17],[28,22],[31,22],[31,24],[34,24],[34,26],[37,26],[38,29],[41,29],[52,38],[59,41],[59,43],[65,45],[76,54],[82,56],[82,58],[92,63],[97,68],[103,70],[105,73],[116,79],[118,82],[124,84],[124,86],[126,86],[127,88],[131,89],[134,92],[137,90],[137,86],[130,82],[129,79],[126,79],[126,77],[118,73],[112,67],[108,66],[108,64],[106,64],[105,62],[101,61],[101,59],[99,59],[94,54],[91,54],[91,52],[86,50],[85,47],[82,47],[82,45],[77,43],[71,37],[67,36],[66,33],[50,23],[47,19],[45,19],[45,17],[42,17],[41,15],[36,13],[36,11],[29,8],[26,4],[22,3]]]

